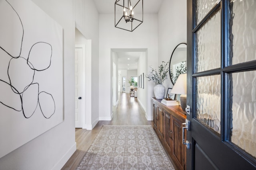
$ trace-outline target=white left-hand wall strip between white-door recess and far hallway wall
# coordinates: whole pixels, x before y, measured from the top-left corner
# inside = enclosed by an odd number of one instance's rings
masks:
[[[87,119],[87,129],[92,129],[99,121],[99,14],[94,0],[75,0],[76,27],[86,37],[92,41],[92,53],[90,62],[86,63],[90,69],[90,77],[86,81],[87,89],[91,89],[90,101],[91,114]],[[108,99],[109,100],[109,99]],[[111,99],[112,100],[112,99]],[[109,106],[110,107],[110,106]],[[111,106],[112,107],[112,106]]]

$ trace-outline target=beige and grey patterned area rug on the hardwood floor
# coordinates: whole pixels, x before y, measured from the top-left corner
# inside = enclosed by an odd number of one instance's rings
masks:
[[[103,125],[77,170],[174,170],[152,126]]]

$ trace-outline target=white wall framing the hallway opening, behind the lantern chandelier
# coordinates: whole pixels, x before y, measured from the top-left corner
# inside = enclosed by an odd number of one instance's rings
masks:
[[[112,105],[110,103],[112,80],[112,65],[110,50],[112,48],[148,49],[147,66],[157,66],[158,55],[158,17],[157,14],[144,14],[143,23],[133,32],[125,31],[114,27],[114,14],[100,15],[100,51],[99,51],[99,90],[102,106],[99,108],[100,117],[105,120],[111,119]],[[153,90],[149,86],[148,90]],[[148,96],[151,98],[152,96]],[[146,112],[152,114],[151,104],[146,106]],[[100,119],[103,120],[103,119]]]

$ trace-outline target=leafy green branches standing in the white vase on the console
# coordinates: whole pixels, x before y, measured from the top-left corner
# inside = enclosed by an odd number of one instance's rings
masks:
[[[156,84],[162,84],[164,80],[167,78],[167,68],[168,62],[162,61],[162,64],[158,66],[158,71],[150,66],[149,74],[146,74],[146,78],[148,81],[153,81]]]

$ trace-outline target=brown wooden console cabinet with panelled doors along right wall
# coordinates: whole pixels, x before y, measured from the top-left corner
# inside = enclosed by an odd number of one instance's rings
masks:
[[[152,98],[152,101],[154,130],[175,168],[186,170],[186,145],[182,143],[182,123],[186,120],[186,112],[180,106],[162,104],[162,99]]]

